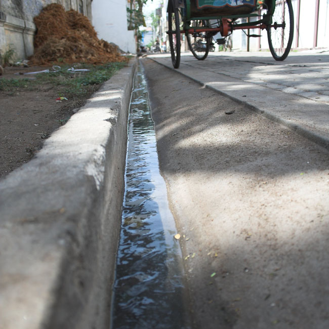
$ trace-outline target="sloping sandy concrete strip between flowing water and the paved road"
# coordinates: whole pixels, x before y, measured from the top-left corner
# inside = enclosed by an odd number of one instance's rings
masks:
[[[193,328],[329,327],[328,152],[142,63]]]

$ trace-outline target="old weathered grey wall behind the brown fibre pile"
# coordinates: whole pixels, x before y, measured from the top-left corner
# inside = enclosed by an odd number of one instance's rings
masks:
[[[51,3],[61,4],[65,10],[74,9],[92,21],[92,0],[0,0],[0,53],[15,50],[15,60],[33,54],[33,17]]]

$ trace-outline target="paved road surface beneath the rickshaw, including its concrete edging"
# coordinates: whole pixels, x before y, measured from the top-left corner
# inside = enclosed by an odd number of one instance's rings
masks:
[[[173,68],[169,54],[149,55]],[[329,50],[292,52],[283,62],[267,52],[182,53],[175,70],[250,106],[329,149]]]

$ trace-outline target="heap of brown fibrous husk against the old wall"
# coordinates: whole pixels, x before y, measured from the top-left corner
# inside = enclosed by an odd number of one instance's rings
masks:
[[[117,46],[99,40],[88,18],[74,10],[65,12],[61,5],[51,4],[34,17],[34,23],[37,32],[31,64],[101,64],[127,60]]]

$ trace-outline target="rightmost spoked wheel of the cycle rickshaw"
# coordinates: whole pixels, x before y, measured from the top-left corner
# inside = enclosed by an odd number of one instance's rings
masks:
[[[272,56],[283,61],[289,54],[294,37],[294,13],[291,0],[277,0],[272,24],[267,27],[268,45]]]

